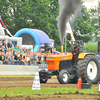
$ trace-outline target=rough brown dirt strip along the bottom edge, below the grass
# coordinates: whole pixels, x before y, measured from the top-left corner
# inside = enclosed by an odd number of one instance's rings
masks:
[[[55,93],[54,95],[31,95],[31,96],[7,96],[0,97],[0,100],[100,100],[99,95],[76,93]]]

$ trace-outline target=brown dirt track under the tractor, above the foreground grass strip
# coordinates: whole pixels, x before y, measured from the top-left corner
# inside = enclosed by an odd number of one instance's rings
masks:
[[[13,77],[13,78],[0,78],[0,88],[22,88],[22,87],[32,87],[34,78],[32,77]],[[92,87],[97,87],[98,85],[92,85]],[[52,77],[47,81],[46,84],[41,84],[41,87],[76,87],[76,84],[59,84],[56,77]]]

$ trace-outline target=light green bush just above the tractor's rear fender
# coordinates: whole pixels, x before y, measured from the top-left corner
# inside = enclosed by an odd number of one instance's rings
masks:
[[[84,44],[83,52],[94,53],[97,55],[97,51],[98,51],[98,45],[96,43],[88,42],[88,43]]]

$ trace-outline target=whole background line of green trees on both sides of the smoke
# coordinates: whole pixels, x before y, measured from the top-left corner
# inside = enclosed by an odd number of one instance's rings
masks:
[[[55,47],[60,46],[58,0],[0,0],[0,15],[12,35],[22,28],[40,29],[55,40]],[[100,40],[100,3],[92,9],[82,5],[70,24],[76,40],[85,43]],[[66,38],[71,40],[69,34]]]

